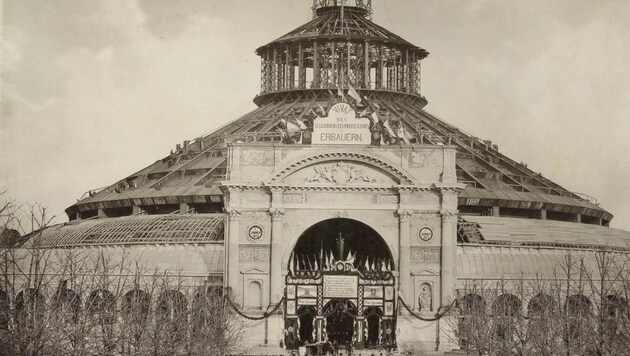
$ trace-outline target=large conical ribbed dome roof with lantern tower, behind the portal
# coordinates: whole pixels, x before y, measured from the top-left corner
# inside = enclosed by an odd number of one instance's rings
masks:
[[[466,184],[459,197],[463,214],[498,215],[498,210],[501,216],[610,222],[612,215],[594,199],[564,189],[506,157],[491,141],[425,111],[420,62],[428,53],[373,23],[363,2],[343,8],[320,3],[312,21],[258,48],[262,83],[256,110],[87,192],[66,209],[70,219],[94,217],[99,210],[108,217],[170,213],[181,203],[199,213],[221,212],[218,186],[229,175],[230,142],[309,144],[313,119],[343,100],[374,118],[375,145],[457,147],[458,181]]]

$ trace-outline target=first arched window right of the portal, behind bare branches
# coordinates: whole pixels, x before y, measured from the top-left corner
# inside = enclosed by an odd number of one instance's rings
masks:
[[[462,349],[478,348],[479,343],[486,340],[481,335],[488,328],[486,317],[486,302],[478,294],[467,294],[459,303],[461,310],[459,318],[458,337]]]

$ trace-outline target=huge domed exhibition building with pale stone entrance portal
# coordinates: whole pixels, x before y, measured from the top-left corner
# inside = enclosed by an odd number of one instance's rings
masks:
[[[467,282],[630,251],[593,198],[425,111],[429,53],[371,14],[314,1],[256,50],[257,109],[86,193],[40,245],[125,248],[228,288],[251,316],[280,303],[246,344],[439,352],[455,345],[436,315]]]

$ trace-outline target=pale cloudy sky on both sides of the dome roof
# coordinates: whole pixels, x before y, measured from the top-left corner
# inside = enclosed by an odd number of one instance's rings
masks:
[[[427,110],[630,230],[630,1],[374,0]],[[255,107],[309,0],[4,0],[0,191],[63,210]]]

